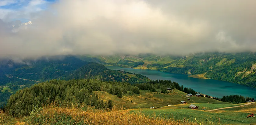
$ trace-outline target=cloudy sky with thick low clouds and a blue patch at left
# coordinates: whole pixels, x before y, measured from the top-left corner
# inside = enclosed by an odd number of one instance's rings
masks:
[[[255,0],[0,0],[0,57],[256,49]],[[11,21],[32,21],[10,27]]]

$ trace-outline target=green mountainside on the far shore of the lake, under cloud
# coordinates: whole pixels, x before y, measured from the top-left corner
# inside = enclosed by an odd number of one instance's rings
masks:
[[[107,64],[210,78],[256,88],[256,56],[242,53],[197,53],[186,56],[154,54],[95,56]]]

